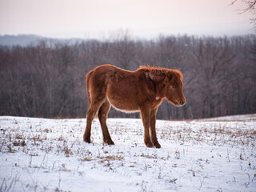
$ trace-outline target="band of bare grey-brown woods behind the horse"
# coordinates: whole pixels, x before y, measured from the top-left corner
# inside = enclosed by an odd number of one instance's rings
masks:
[[[139,66],[178,68],[186,105],[163,102],[158,118],[208,118],[256,112],[256,36],[232,38],[159,36],[134,40],[128,34],[102,41],[43,41],[0,47],[0,115],[85,118],[85,75],[102,64],[126,70]],[[111,118],[138,118],[110,110]]]

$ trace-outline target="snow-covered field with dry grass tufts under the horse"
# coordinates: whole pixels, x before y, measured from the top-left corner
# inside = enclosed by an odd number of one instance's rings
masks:
[[[256,191],[256,114],[157,121],[162,148],[143,143],[141,119],[108,119],[114,146],[92,144],[85,119],[0,117],[0,191]]]

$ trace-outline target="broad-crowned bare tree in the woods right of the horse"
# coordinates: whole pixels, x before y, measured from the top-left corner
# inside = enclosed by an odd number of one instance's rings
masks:
[[[227,38],[216,40],[208,38],[200,39],[194,56],[198,61],[196,89],[201,90],[202,115],[213,117],[216,107],[226,101],[225,90],[230,86],[233,75],[230,69],[232,69],[234,54],[230,50]]]

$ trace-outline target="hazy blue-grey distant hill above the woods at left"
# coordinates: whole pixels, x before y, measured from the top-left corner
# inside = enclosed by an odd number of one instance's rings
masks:
[[[68,42],[74,44],[76,42],[94,41],[82,38],[46,38],[35,34],[18,34],[18,35],[0,35],[0,46],[29,46],[37,44],[40,41]]]

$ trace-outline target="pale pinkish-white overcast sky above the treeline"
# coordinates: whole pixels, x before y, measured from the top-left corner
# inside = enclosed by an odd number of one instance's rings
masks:
[[[253,33],[241,0],[0,0],[0,34],[102,38],[129,30],[135,38],[158,34]]]

